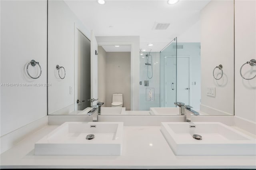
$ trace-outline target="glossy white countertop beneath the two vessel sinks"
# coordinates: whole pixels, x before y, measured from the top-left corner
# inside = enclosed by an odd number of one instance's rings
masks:
[[[159,126],[124,126],[121,156],[35,156],[34,143],[56,127],[46,126],[2,153],[1,169],[256,168],[256,156],[176,156]]]

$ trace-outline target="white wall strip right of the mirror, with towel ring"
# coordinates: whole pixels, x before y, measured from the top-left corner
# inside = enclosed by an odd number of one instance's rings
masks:
[[[235,1],[235,116],[256,122],[256,78],[244,80],[240,67],[256,59],[256,1]],[[246,77],[256,74],[256,67],[244,66]],[[252,71],[252,69],[254,71]]]

